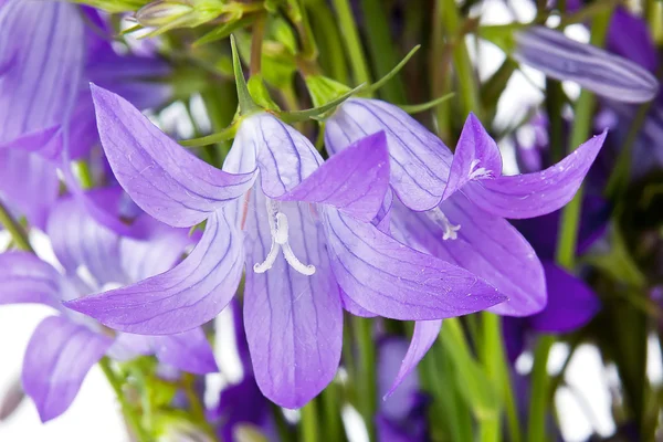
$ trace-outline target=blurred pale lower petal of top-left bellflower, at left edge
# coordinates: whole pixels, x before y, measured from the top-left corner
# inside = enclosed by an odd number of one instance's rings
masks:
[[[30,225],[44,229],[60,192],[55,166],[39,155],[0,150],[0,199]]]

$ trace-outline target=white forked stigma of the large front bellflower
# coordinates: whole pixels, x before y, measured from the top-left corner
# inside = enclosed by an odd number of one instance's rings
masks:
[[[262,263],[255,263],[253,271],[255,273],[265,273],[276,262],[278,252],[283,252],[283,257],[295,271],[303,275],[311,276],[315,273],[315,265],[304,264],[295,256],[295,252],[291,248],[288,238],[287,217],[281,211],[281,203],[271,199],[266,199],[267,220],[270,221],[270,233],[272,234],[272,246],[270,253]]]

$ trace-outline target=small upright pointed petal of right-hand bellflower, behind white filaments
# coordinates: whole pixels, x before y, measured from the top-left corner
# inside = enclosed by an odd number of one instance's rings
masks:
[[[502,155],[495,140],[474,114],[470,114],[459,138],[449,183],[442,199],[449,198],[473,179],[496,178],[502,175]]]

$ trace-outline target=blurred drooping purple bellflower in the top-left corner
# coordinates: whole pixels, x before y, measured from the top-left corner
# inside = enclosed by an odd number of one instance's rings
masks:
[[[170,95],[169,86],[146,81],[169,73],[164,62],[118,55],[99,33],[110,30],[91,8],[34,0],[0,4],[0,198],[31,225],[45,225],[59,194],[57,167],[70,190],[92,207],[70,170],[70,159],[98,145],[90,81],[140,108]],[[101,209],[92,213],[112,225],[113,217]],[[122,223],[113,227],[126,233]]]

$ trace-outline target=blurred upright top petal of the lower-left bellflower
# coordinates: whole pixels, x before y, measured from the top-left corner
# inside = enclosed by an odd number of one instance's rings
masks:
[[[63,197],[55,203],[46,233],[67,274],[76,275],[85,267],[97,288],[107,283],[130,282],[119,262],[119,236],[97,223],[77,199]]]

